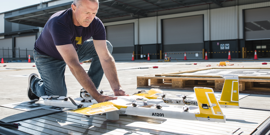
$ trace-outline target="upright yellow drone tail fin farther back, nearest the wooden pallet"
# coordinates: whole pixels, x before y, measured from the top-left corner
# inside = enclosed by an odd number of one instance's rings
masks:
[[[238,75],[223,75],[225,82],[219,104],[222,108],[239,108]]]

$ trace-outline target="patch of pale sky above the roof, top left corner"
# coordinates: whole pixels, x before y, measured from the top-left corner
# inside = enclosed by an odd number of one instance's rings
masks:
[[[42,0],[43,2],[50,1],[50,0]],[[1,8],[0,13],[11,11],[14,9],[22,8],[25,6],[39,4],[40,0],[0,0]]]

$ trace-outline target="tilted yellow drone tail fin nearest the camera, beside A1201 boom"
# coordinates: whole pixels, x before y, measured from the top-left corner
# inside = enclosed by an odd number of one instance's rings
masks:
[[[214,95],[212,88],[194,87],[200,112],[195,112],[195,116],[199,121],[204,122],[223,122],[225,123],[225,115]]]

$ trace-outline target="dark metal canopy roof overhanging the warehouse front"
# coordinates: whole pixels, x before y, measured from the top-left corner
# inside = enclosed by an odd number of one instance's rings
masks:
[[[205,4],[215,4],[221,8],[226,1],[234,0],[100,0],[96,16],[101,20],[123,16],[131,16],[133,19],[144,18],[149,17],[147,14],[153,12]],[[50,16],[58,11],[70,8],[71,3],[67,2],[19,14],[7,15],[4,18],[9,22],[44,27]]]

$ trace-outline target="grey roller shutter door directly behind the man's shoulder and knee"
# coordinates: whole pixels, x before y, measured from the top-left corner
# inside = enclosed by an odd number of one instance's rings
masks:
[[[114,59],[131,59],[134,51],[134,23],[107,26],[106,38],[113,46]]]

